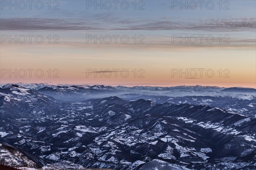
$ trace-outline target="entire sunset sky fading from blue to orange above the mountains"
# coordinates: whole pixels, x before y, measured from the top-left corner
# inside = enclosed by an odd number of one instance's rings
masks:
[[[29,2],[0,0],[0,84],[256,88],[255,0]]]

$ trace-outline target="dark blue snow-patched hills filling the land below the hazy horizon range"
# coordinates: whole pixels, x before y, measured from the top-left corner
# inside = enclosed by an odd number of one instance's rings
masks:
[[[56,88],[60,96],[71,91]],[[101,88],[94,90],[106,90]],[[256,168],[256,116],[217,107],[223,102],[227,108],[248,104],[255,109],[253,95],[125,93],[122,98],[72,102],[41,94],[40,89],[15,84],[0,88],[0,142],[42,159],[49,170],[63,164],[114,170]]]

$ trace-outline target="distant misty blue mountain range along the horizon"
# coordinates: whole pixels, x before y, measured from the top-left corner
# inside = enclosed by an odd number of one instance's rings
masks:
[[[15,84],[13,84],[15,85]],[[216,86],[174,86],[174,87],[151,87],[151,86],[106,86],[106,85],[54,85],[44,83],[18,83],[26,89],[32,89],[41,94],[52,96],[62,101],[83,101],[86,99],[97,99],[108,96],[120,96],[123,94],[140,95],[161,95],[161,96],[239,96],[253,95],[256,91],[251,88],[233,89],[221,88]],[[2,88],[6,87],[4,85]],[[227,89],[225,91],[225,89]],[[249,89],[249,90],[248,90]]]

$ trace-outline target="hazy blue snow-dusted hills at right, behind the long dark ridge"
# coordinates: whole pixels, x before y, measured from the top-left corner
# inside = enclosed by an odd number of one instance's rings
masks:
[[[152,95],[137,95],[123,94],[120,96],[126,100],[145,99],[155,103],[169,102],[171,104],[190,104],[190,105],[209,105],[218,107],[230,112],[236,112],[246,116],[256,115],[256,97],[253,95],[240,94],[233,96],[152,96]]]

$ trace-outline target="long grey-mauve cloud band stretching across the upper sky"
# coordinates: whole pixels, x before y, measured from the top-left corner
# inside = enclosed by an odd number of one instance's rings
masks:
[[[255,31],[256,18],[212,19],[196,21],[128,20],[108,15],[85,18],[2,18],[1,30],[198,30]]]

